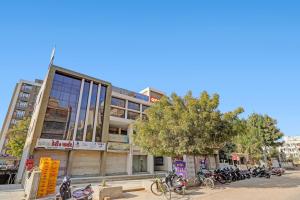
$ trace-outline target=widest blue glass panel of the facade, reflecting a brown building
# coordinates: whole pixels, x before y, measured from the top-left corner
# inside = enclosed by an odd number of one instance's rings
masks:
[[[80,79],[59,73],[54,75],[42,138],[72,139],[80,87]]]

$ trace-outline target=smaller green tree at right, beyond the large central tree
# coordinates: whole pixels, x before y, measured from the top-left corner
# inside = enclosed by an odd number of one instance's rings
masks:
[[[253,113],[243,121],[243,128],[234,141],[239,152],[247,153],[253,160],[258,161],[264,155],[266,159],[267,148],[277,147],[282,136],[275,119]]]

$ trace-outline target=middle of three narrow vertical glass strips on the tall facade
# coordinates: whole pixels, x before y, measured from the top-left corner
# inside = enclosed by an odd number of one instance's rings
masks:
[[[86,141],[92,141],[93,139],[93,130],[94,130],[94,119],[96,116],[96,104],[97,104],[97,93],[98,93],[98,85],[93,84],[90,110],[88,117],[88,125],[86,131]]]

